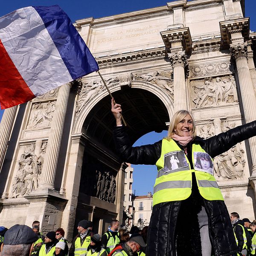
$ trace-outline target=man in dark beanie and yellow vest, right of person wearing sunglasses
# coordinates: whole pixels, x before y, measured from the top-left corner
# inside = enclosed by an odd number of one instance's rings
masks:
[[[77,226],[78,234],[72,241],[69,250],[69,256],[80,256],[87,253],[87,249],[90,245],[90,229],[88,228],[88,221],[79,221]]]

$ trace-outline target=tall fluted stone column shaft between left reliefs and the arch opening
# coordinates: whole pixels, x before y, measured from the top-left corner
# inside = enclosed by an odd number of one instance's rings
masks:
[[[52,118],[51,130],[47,143],[45,160],[42,167],[41,181],[38,187],[39,190],[44,188],[54,189],[55,173],[70,88],[71,83],[63,84],[58,93],[58,99],[56,101],[56,108]]]

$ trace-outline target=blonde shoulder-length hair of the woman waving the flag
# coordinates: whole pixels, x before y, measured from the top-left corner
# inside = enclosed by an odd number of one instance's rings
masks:
[[[186,115],[191,116],[191,119],[192,119],[192,122],[193,122],[193,128],[192,128],[192,131],[191,131],[192,139],[194,139],[196,137],[195,119],[192,116],[192,113],[190,113],[189,111],[186,111],[186,110],[179,110],[172,116],[172,119],[171,119],[170,125],[169,125],[169,129],[168,129],[168,135],[166,137],[167,140],[172,139],[172,135],[175,134],[177,124],[180,121],[182,121],[185,118]]]

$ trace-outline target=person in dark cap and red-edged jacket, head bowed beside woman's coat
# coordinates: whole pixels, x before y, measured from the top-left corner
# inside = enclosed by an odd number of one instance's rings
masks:
[[[143,237],[140,234],[133,234],[130,239],[116,246],[108,256],[133,256],[134,253],[146,247]]]

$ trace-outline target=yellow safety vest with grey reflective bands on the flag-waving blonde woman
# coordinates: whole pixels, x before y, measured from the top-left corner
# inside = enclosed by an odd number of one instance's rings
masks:
[[[193,156],[196,152],[206,153],[199,144],[192,144],[192,162],[194,166]],[[164,165],[165,157],[166,161],[170,161],[171,155],[175,155],[176,153],[182,156],[180,160],[186,160],[186,164],[184,164],[182,168],[174,170],[166,169]],[[170,156],[169,158],[168,155]],[[203,198],[210,201],[224,200],[213,175],[203,170],[198,171],[192,169],[188,158],[174,140],[162,140],[161,156],[157,160],[156,166],[158,173],[154,184],[153,205],[169,201],[181,201],[189,198],[192,189],[192,172],[195,172],[198,189]]]

